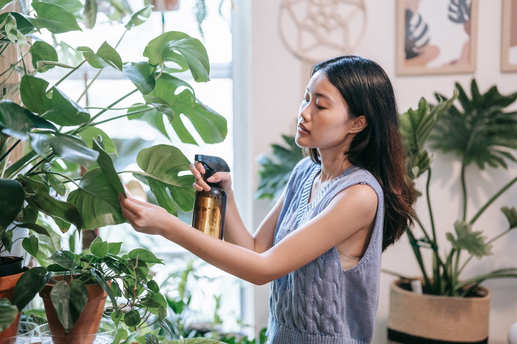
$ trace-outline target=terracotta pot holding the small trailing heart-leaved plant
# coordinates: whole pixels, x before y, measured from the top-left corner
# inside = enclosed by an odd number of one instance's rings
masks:
[[[53,276],[54,281],[63,281],[64,275]],[[67,282],[70,281],[70,275],[67,275]],[[111,286],[111,282],[108,281]],[[39,292],[39,296],[43,299],[45,307],[45,314],[49,322],[49,330],[52,336],[52,341],[56,344],[92,344],[97,336],[106,303],[107,293],[99,284],[87,284],[88,301],[84,306],[78,321],[73,325],[70,332],[65,333],[65,329],[59,318],[50,298],[53,284],[47,284]]]

